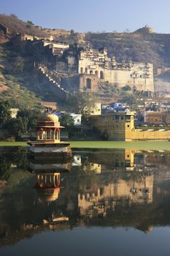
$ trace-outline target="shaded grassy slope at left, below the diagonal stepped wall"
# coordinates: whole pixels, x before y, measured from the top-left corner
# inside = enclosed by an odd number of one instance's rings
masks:
[[[32,109],[42,100],[57,101],[28,56],[0,45],[0,100],[9,99],[12,108]]]

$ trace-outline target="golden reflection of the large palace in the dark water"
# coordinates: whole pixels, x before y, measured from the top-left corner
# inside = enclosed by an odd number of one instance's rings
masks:
[[[115,206],[122,202],[152,203],[153,176],[135,177],[128,181],[117,177],[116,182],[93,185],[90,189],[83,189],[78,195],[80,215],[93,217],[105,217],[107,211],[115,211]]]

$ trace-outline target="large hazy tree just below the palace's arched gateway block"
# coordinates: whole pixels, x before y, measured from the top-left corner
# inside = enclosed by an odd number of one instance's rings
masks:
[[[95,96],[88,91],[73,91],[69,94],[68,105],[74,113],[90,114],[90,110],[95,106]]]

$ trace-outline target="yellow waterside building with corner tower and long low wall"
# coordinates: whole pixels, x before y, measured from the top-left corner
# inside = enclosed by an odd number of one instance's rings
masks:
[[[169,140],[169,129],[135,129],[133,111],[107,113],[101,116],[91,116],[90,122],[108,140]]]

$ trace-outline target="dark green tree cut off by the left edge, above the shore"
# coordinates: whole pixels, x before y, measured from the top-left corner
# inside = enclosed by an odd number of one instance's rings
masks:
[[[5,124],[11,118],[11,105],[8,100],[2,100],[0,102],[0,128],[3,128]]]

